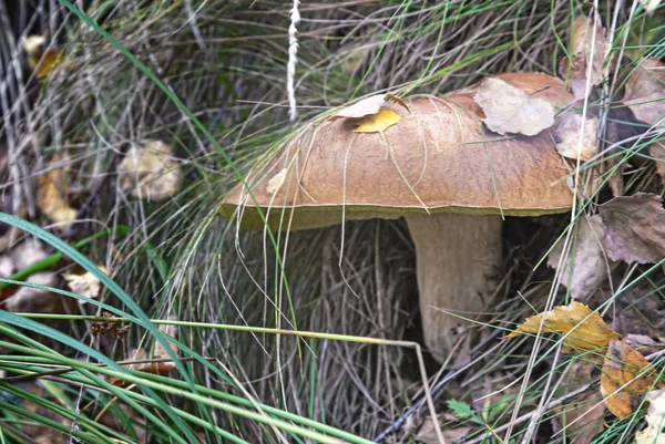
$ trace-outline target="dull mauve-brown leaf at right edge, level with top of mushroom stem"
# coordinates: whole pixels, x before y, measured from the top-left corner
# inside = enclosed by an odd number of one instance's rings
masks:
[[[638,193],[615,197],[598,214],[605,225],[603,245],[613,260],[655,264],[665,257],[665,209],[661,196]]]

